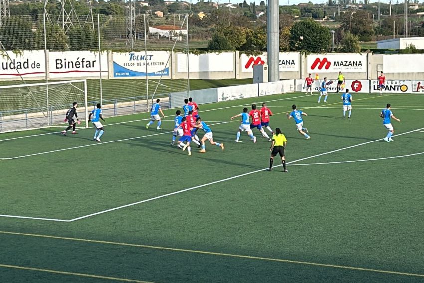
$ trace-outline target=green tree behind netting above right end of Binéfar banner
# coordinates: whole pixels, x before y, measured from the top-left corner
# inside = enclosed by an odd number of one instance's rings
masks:
[[[73,26],[68,31],[68,45],[71,50],[98,50],[97,32],[89,25]]]

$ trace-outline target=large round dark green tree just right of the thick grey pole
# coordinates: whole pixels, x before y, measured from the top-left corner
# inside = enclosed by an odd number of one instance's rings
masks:
[[[311,18],[296,22],[290,31],[290,48],[294,51],[324,52],[330,42],[330,30]]]

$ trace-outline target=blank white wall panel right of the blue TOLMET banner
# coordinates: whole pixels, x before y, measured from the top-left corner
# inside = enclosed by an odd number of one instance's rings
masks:
[[[234,52],[189,54],[190,72],[233,72]],[[177,53],[177,72],[187,72],[187,54]]]

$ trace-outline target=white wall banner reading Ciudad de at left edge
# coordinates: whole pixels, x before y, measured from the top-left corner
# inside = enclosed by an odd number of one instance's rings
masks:
[[[0,55],[0,79],[11,79],[45,76],[44,51],[6,51],[10,58],[2,53]]]

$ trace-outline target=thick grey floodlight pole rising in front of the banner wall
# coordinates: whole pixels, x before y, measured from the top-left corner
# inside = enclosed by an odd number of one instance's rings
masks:
[[[267,51],[268,81],[280,80],[280,28],[278,0],[268,0],[267,7]]]

